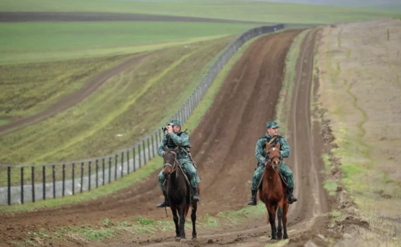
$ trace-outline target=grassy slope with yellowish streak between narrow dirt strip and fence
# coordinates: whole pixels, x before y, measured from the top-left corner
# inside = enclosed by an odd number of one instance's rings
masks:
[[[169,48],[145,58],[76,107],[4,136],[0,163],[71,161],[132,145],[167,121],[196,87],[201,70],[232,39]],[[123,136],[116,137],[119,133]]]

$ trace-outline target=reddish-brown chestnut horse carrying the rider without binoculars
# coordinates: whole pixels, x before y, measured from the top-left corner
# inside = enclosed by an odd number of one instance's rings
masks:
[[[281,239],[282,228],[284,228],[284,239],[288,239],[287,235],[287,212],[288,212],[288,193],[287,186],[281,181],[278,174],[278,168],[281,163],[280,143],[276,145],[266,144],[266,167],[263,171],[262,188],[259,192],[259,198],[265,203],[267,208],[267,221],[271,226],[271,239]],[[278,228],[276,231],[275,216],[277,212]]]

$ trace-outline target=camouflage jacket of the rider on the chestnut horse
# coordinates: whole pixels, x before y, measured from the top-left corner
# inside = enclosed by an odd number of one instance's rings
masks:
[[[269,142],[270,139],[270,135],[266,133],[266,135],[259,138],[258,142],[256,143],[255,156],[258,162],[261,164],[265,164],[266,162],[266,142]],[[277,142],[280,142],[281,161],[283,162],[284,158],[288,158],[290,156],[290,146],[288,145],[284,136],[277,135],[273,143],[277,144]]]

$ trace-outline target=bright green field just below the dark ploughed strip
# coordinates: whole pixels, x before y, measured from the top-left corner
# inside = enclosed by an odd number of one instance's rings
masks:
[[[128,54],[237,34],[253,26],[191,22],[1,23],[0,64]]]

